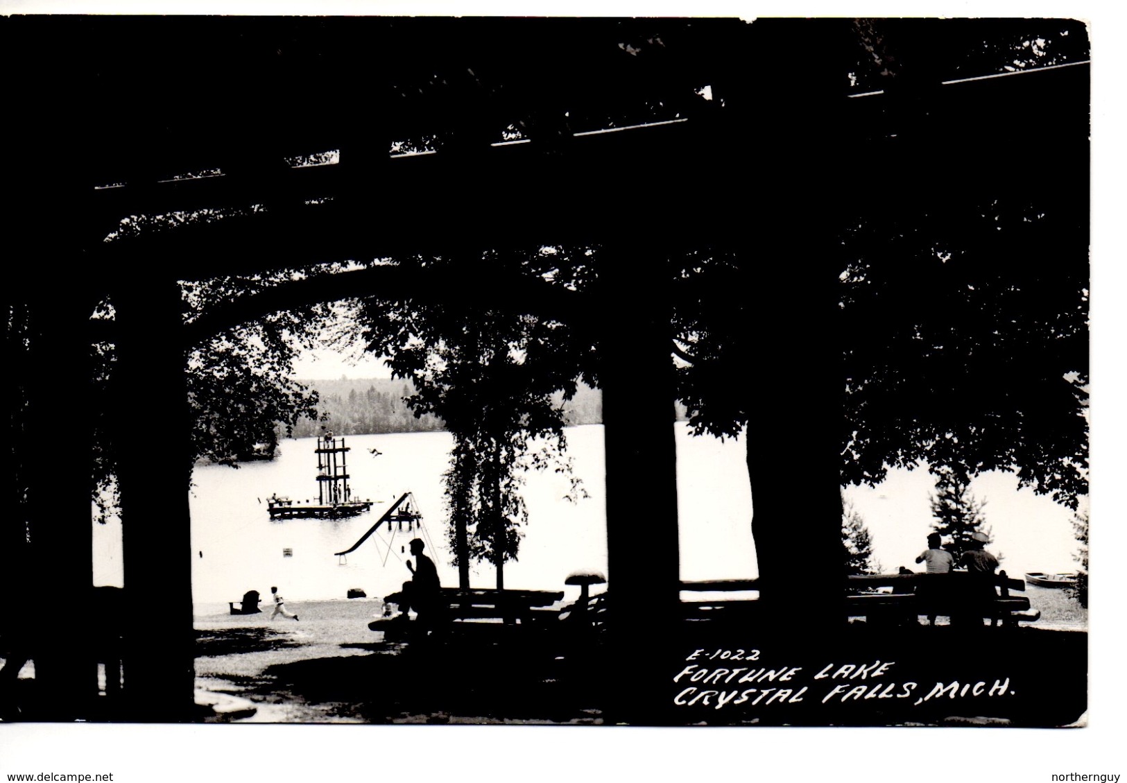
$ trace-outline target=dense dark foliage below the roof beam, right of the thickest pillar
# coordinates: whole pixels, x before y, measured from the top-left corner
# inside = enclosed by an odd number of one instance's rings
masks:
[[[844,477],[926,461],[1086,491],[1086,250],[1067,213],[991,201],[850,232]],[[1053,259],[1054,263],[1049,263]]]

